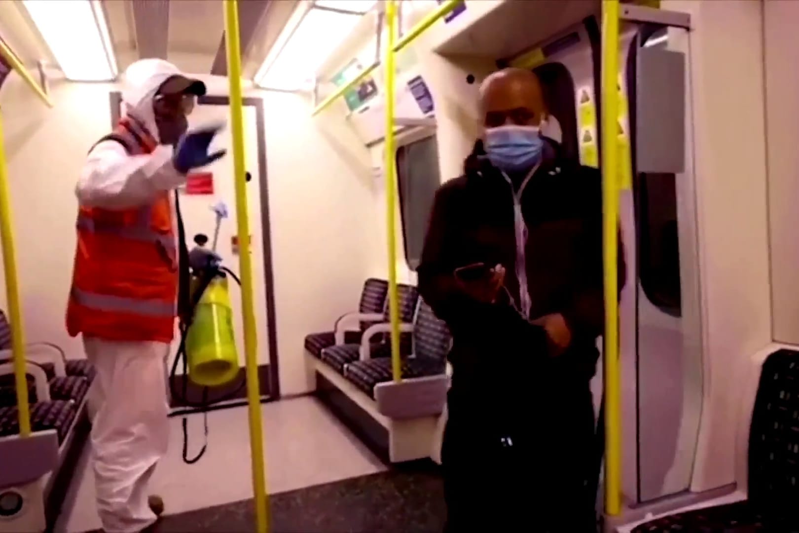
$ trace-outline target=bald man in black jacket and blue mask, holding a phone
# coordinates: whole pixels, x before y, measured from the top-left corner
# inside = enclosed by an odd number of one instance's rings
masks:
[[[489,76],[480,107],[482,137],[436,193],[418,270],[454,339],[447,531],[595,531],[600,175],[541,134],[531,71]]]

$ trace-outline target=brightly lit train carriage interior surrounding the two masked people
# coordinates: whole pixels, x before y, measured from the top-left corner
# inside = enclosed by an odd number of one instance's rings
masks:
[[[597,531],[799,531],[797,22],[793,0],[0,2],[0,532],[102,527],[75,184],[143,58],[205,83],[189,130],[225,124],[228,152],[175,193],[229,268],[191,327],[227,309],[229,348],[204,380],[191,330],[169,346],[155,531],[443,530],[457,370],[417,269],[505,67],[536,74],[541,135],[598,169],[622,243],[582,448]]]

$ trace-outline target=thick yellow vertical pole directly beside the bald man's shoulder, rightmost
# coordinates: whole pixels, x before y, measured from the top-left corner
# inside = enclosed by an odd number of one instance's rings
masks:
[[[618,364],[618,0],[602,0],[602,235],[605,274],[605,511],[621,511]]]

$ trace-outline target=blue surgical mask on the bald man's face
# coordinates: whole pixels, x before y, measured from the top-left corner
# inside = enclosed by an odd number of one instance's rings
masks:
[[[505,172],[529,170],[541,161],[543,140],[535,125],[501,125],[486,129],[488,160]]]

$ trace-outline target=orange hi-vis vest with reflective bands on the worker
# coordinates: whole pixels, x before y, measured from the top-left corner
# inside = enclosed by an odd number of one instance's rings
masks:
[[[129,155],[152,153],[157,146],[129,118],[101,139],[105,140],[121,143]],[[132,209],[81,207],[77,227],[66,310],[70,336],[169,343],[178,280],[169,193],[159,193],[151,204]]]

